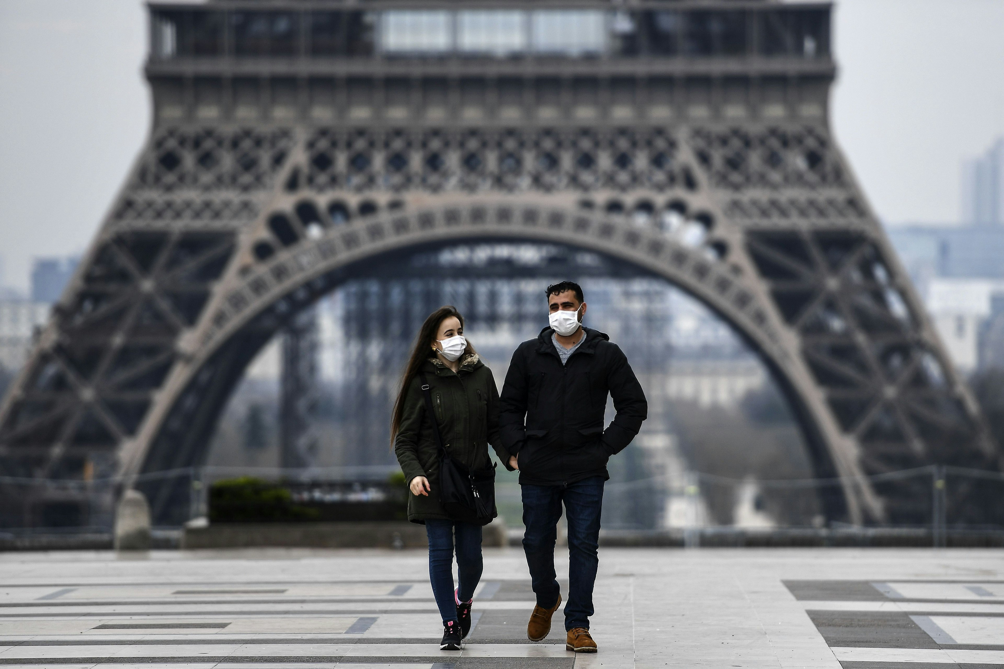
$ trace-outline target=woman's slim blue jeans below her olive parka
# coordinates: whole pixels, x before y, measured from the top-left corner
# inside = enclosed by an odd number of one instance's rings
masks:
[[[461,602],[474,597],[481,580],[481,526],[453,521],[426,521],[429,537],[429,580],[443,622],[457,620],[457,603],[453,596],[453,546],[456,535],[457,567],[460,574]]]

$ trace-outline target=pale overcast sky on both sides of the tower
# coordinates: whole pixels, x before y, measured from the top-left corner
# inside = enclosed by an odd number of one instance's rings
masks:
[[[1004,0],[837,0],[832,122],[878,216],[955,223],[1004,135]],[[82,252],[150,125],[140,0],[0,0],[0,254]]]

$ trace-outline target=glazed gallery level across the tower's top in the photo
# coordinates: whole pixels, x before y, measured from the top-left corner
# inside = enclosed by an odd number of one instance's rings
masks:
[[[829,56],[828,8],[155,10],[155,58]]]

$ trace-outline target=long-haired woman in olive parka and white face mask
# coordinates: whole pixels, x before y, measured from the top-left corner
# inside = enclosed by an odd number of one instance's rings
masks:
[[[426,410],[428,383],[435,416]],[[499,396],[492,372],[464,338],[464,317],[441,307],[422,324],[394,404],[391,440],[405,472],[408,520],[424,524],[429,536],[429,578],[443,618],[441,650],[460,650],[471,630],[474,589],[481,579],[481,526],[451,519],[440,504],[439,426],[450,457],[471,469],[491,468],[488,443],[499,452]],[[492,510],[492,518],[497,516]],[[459,587],[454,590],[456,536]]]

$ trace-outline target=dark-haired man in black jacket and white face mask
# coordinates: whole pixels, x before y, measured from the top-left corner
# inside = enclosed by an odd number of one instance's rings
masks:
[[[648,413],[628,358],[602,332],[582,327],[585,300],[571,281],[548,286],[550,326],[519,345],[501,395],[506,465],[519,469],[523,550],[537,605],[526,635],[541,641],[561,605],[554,544],[564,503],[568,522],[568,603],[565,648],[595,653],[589,636],[592,587],[599,560],[599,516],[606,460],[631,443]],[[606,395],[616,415],[603,429]]]

